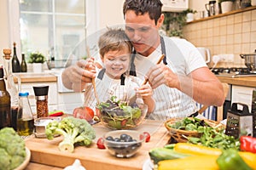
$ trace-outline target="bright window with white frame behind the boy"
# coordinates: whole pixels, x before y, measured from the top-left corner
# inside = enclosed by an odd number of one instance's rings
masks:
[[[85,0],[20,0],[21,51],[67,59],[86,35]]]

